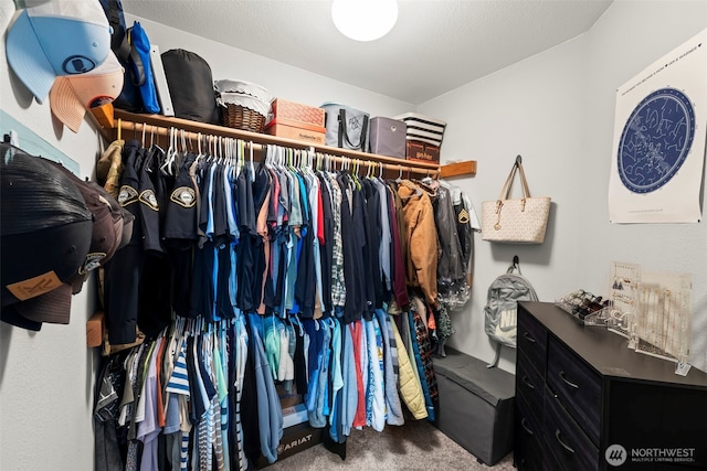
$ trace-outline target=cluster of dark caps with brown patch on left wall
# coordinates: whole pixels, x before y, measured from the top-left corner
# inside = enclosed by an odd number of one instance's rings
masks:
[[[133,216],[96,183],[0,143],[3,322],[67,324],[72,295],[123,248]]]

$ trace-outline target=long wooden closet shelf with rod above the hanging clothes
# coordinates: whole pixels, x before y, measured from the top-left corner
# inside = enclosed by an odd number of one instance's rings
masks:
[[[233,139],[241,139],[250,141],[255,144],[255,149],[262,149],[262,146],[275,144],[281,147],[288,147],[292,149],[314,149],[317,152],[330,154],[334,157],[335,162],[341,162],[345,159],[358,160],[361,163],[369,161],[381,164],[388,171],[409,171],[418,174],[428,175],[444,175],[445,169],[450,165],[440,165],[437,163],[418,162],[410,160],[400,160],[393,157],[378,156],[367,152],[360,152],[356,150],[340,149],[329,146],[313,146],[308,142],[302,142],[294,139],[286,139],[275,136],[270,136],[258,132],[250,132],[241,129],[228,128],[224,126],[209,125],[199,121],[191,121],[188,119],[166,117],[161,115],[143,115],[128,113],[122,109],[113,109],[113,105],[104,105],[103,107],[92,108],[92,115],[95,118],[98,126],[103,128],[104,136],[108,139],[117,139],[125,131],[131,131],[136,133],[145,132],[156,133],[159,136],[168,136],[170,128],[183,130],[187,135],[187,139],[197,139],[199,133],[201,136],[220,136]],[[460,174],[474,174],[476,171],[476,162],[468,161],[462,162],[464,168],[456,167],[457,173],[450,173],[449,175]],[[460,165],[460,164],[453,164]],[[458,173],[464,172],[464,173]]]

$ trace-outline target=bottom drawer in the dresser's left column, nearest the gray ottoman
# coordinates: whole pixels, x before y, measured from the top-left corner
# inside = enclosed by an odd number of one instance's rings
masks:
[[[516,443],[514,461],[520,471],[545,471],[546,451],[542,442],[542,427],[540,421],[528,411],[528,403],[521,396],[516,396]]]

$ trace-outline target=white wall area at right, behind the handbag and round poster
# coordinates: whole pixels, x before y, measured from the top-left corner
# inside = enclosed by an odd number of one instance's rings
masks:
[[[611,263],[619,260],[692,274],[690,362],[707,370],[707,227],[609,224],[608,211],[616,88],[705,28],[704,1],[616,0],[584,35],[419,106],[449,122],[443,160],[477,160],[476,176],[453,180],[477,211],[498,196],[517,154],[531,194],[552,197],[541,246],[503,246],[476,235],[472,299],[452,314],[451,345],[493,358],[486,290],[514,255],[542,301],[578,288],[605,295]],[[513,371],[515,351],[504,349],[500,366]]]

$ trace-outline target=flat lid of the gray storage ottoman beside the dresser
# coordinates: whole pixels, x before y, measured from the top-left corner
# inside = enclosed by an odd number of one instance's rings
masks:
[[[446,347],[446,356],[434,356],[434,373],[458,384],[464,389],[496,406],[500,400],[515,396],[516,377],[498,367],[487,368],[486,363]]]

